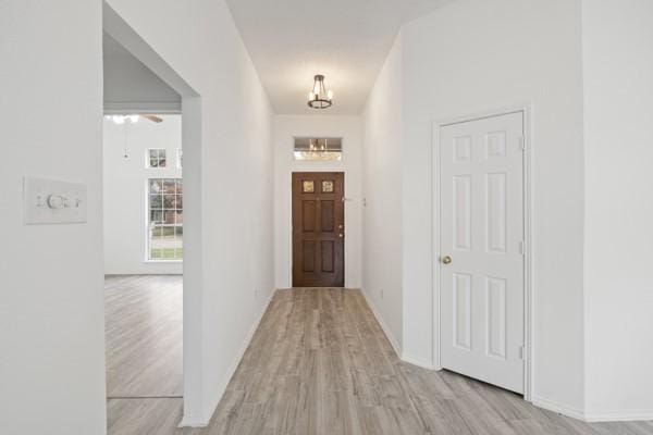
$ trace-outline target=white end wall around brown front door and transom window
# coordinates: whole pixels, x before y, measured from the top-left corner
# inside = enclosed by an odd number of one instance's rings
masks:
[[[274,268],[276,288],[292,287],[292,173],[345,172],[345,286],[359,288],[361,244],[361,119],[333,115],[274,116]],[[293,137],[342,137],[343,160],[293,160]]]

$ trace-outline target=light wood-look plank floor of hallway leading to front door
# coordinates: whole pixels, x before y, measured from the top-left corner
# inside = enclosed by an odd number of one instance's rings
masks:
[[[402,362],[359,290],[275,294],[210,426],[175,430],[181,399],[109,405],[109,433],[158,435],[644,435],[584,424],[449,372]]]

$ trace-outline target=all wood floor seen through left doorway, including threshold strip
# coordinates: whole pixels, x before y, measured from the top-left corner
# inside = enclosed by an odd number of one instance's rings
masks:
[[[107,419],[112,435],[172,434],[183,408],[182,276],[107,276]]]

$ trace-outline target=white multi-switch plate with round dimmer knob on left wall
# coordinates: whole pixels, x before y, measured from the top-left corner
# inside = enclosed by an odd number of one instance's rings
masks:
[[[86,222],[86,186],[44,178],[23,178],[26,225]]]

